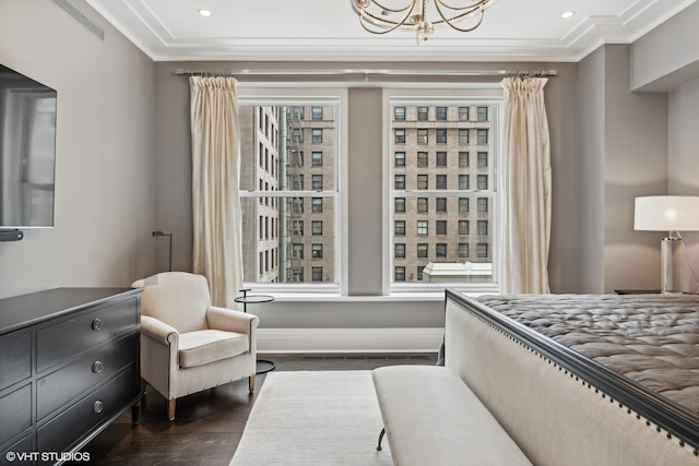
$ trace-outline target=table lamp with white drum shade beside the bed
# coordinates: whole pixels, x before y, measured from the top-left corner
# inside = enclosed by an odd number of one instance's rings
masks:
[[[650,195],[636,198],[633,229],[667,231],[661,242],[661,291],[673,292],[673,256],[679,231],[699,231],[699,196]]]

